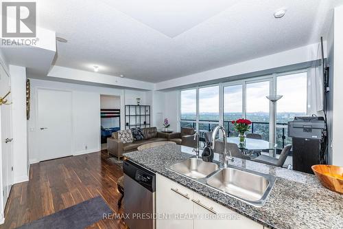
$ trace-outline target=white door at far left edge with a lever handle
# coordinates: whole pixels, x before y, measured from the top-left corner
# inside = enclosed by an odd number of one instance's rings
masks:
[[[10,90],[10,78],[0,67],[0,96],[3,97]],[[11,102],[11,95],[6,97]],[[3,208],[5,207],[8,195],[13,184],[13,155],[12,155],[12,118],[11,105],[0,106],[0,155],[2,166],[2,186],[3,186]]]

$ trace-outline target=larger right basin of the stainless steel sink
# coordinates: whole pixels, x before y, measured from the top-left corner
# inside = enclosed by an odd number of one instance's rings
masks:
[[[207,185],[255,206],[263,206],[274,182],[271,175],[233,167],[222,168],[206,179]]]

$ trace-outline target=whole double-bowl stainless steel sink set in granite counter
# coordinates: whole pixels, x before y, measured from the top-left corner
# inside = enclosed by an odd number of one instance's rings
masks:
[[[272,175],[230,165],[220,168],[200,158],[188,158],[169,169],[253,206],[265,204],[275,182]]]

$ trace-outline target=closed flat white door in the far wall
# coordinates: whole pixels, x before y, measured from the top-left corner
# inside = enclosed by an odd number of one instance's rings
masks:
[[[71,91],[37,90],[36,144],[40,161],[72,155],[71,100]]]

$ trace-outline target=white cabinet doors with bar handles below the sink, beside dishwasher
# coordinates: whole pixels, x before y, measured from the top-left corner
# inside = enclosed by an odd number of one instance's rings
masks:
[[[160,217],[170,215],[167,219],[156,220],[157,229],[263,229],[261,224],[252,219],[162,175],[156,175],[156,213]]]

